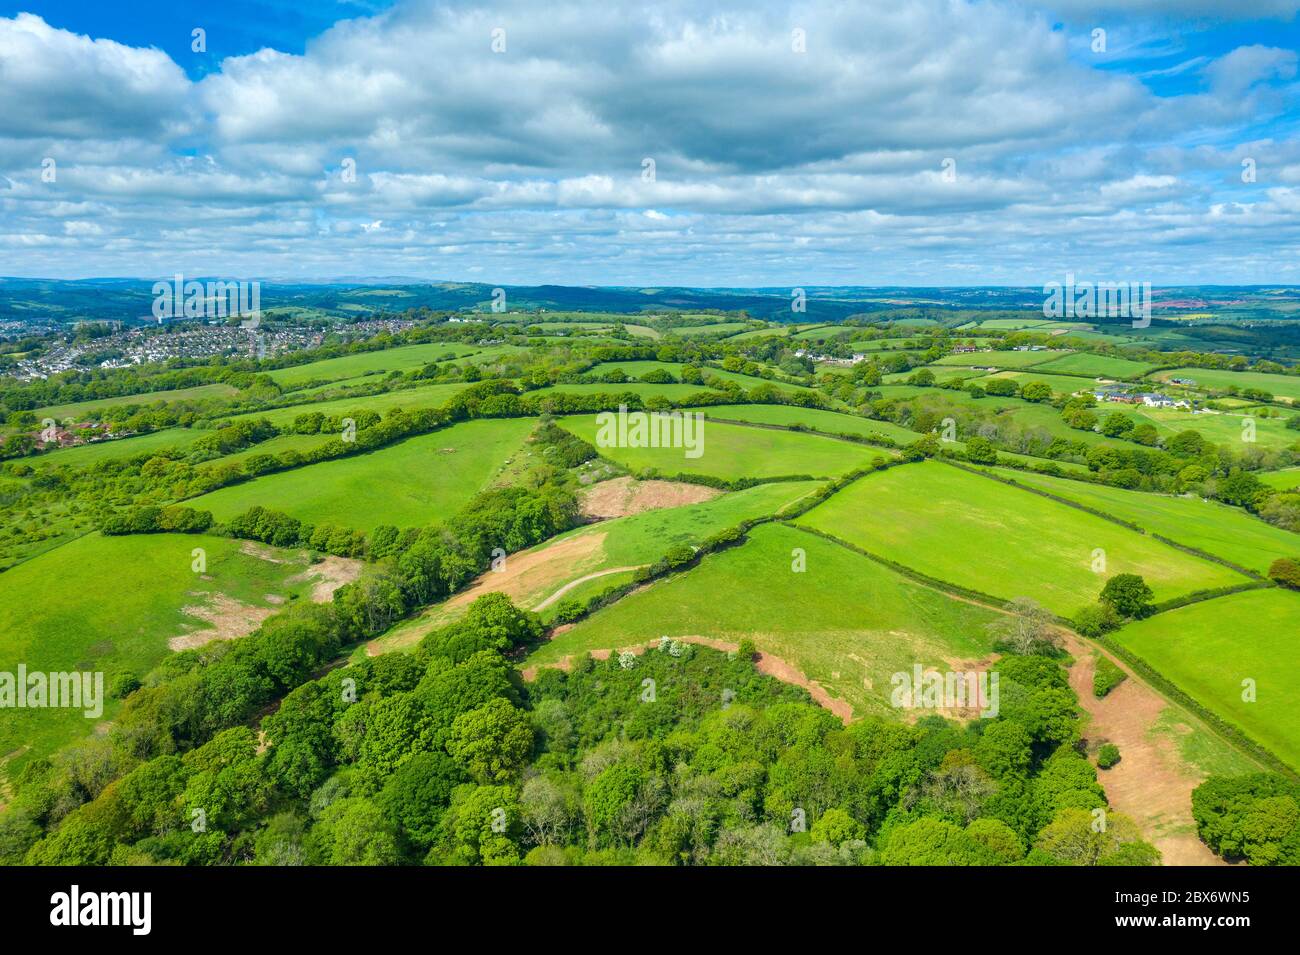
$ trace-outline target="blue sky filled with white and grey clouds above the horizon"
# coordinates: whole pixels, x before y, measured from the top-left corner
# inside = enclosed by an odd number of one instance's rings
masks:
[[[1300,283],[1300,0],[614,6],[0,3],[0,274]]]

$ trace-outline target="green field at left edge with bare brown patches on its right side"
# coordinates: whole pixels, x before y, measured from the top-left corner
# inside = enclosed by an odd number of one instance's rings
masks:
[[[172,651],[168,639],[207,624],[182,613],[208,594],[272,607],[266,594],[309,590],[290,582],[306,561],[280,551],[272,563],[246,555],[243,542],[190,534],[78,538],[0,574],[0,670],[129,670],[143,677]],[[207,551],[207,573],[191,569],[191,551]],[[100,720],[112,719],[105,703]],[[0,756],[27,746],[5,767],[47,755],[91,733],[96,720],[72,709],[5,709]]]

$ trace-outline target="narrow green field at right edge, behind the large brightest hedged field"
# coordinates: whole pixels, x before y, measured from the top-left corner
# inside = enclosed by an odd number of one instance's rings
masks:
[[[1231,560],[1256,573],[1268,573],[1278,557],[1300,555],[1300,534],[1252,517],[1240,508],[1200,498],[1174,498],[1167,494],[1126,491],[1121,487],[1026,474],[996,468],[994,473],[1037,487],[1078,504],[1095,507],[1108,515],[1132,521],[1138,526],[1195,547],[1216,557]]]

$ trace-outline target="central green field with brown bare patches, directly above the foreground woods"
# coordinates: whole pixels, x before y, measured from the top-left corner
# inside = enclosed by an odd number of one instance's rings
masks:
[[[792,569],[797,548],[802,573]],[[846,699],[855,716],[890,713],[893,673],[985,656],[994,617],[812,534],[762,525],[740,547],[580,621],[526,663],[663,635],[749,638]]]

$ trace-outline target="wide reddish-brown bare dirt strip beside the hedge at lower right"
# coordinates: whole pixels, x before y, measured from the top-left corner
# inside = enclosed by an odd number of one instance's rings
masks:
[[[1112,742],[1119,747],[1119,763],[1097,770],[1106,799],[1138,824],[1160,850],[1165,865],[1223,865],[1223,860],[1196,837],[1192,820],[1192,790],[1204,774],[1182,759],[1176,742],[1152,734],[1170,704],[1109,654],[1106,656],[1128,678],[1097,699],[1092,695],[1093,648],[1074,635],[1066,637],[1066,648],[1075,657],[1070,686],[1092,717],[1088,741]]]

